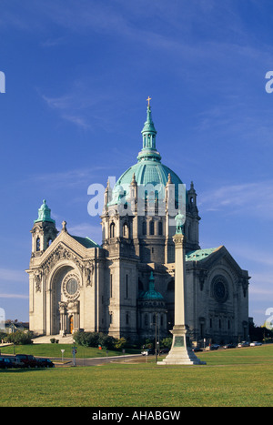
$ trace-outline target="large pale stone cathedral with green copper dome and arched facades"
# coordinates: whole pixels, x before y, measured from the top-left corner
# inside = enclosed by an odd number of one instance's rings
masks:
[[[102,243],[60,231],[45,200],[31,229],[29,326],[39,335],[76,330],[130,341],[171,336],[174,324],[175,217],[186,239],[187,326],[195,343],[248,338],[248,271],[227,248],[199,246],[194,184],[186,188],[163,165],[151,107],[137,162],[109,182],[101,214]],[[170,202],[172,201],[172,202]]]

